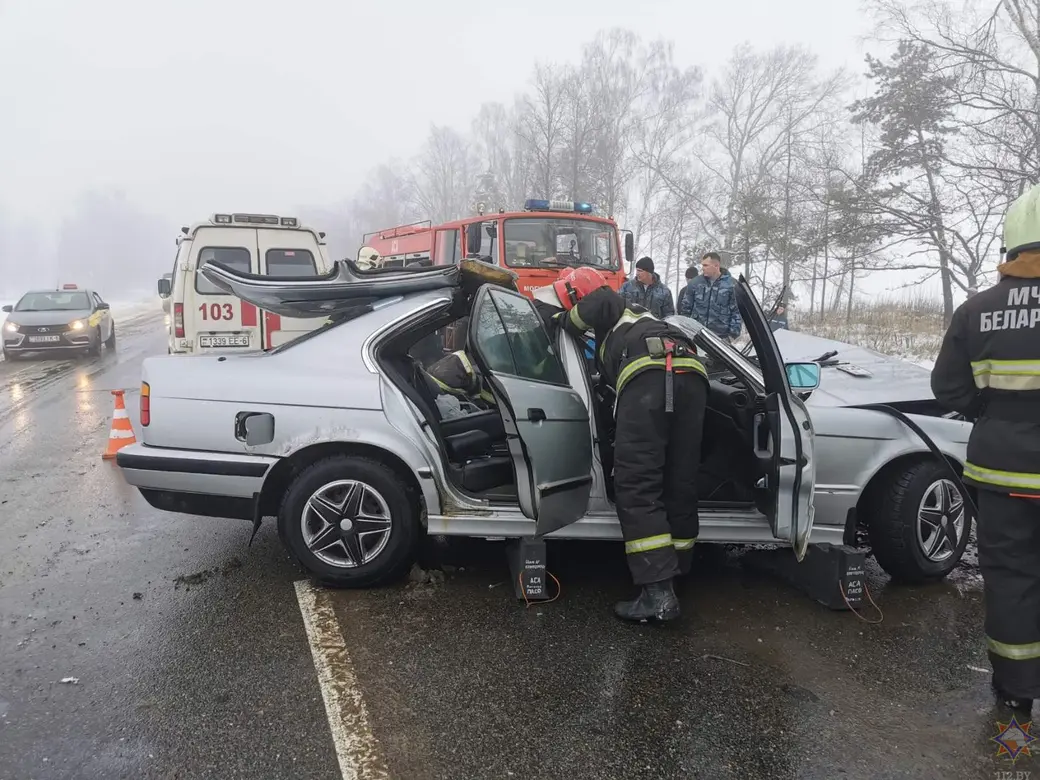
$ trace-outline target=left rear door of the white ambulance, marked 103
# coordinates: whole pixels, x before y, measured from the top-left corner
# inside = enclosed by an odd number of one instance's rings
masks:
[[[255,228],[203,228],[192,241],[194,267],[186,275],[183,316],[185,335],[194,353],[207,349],[259,349],[256,307],[229,295],[198,270],[215,260],[237,271],[258,274]],[[175,302],[176,319],[176,302]]]

